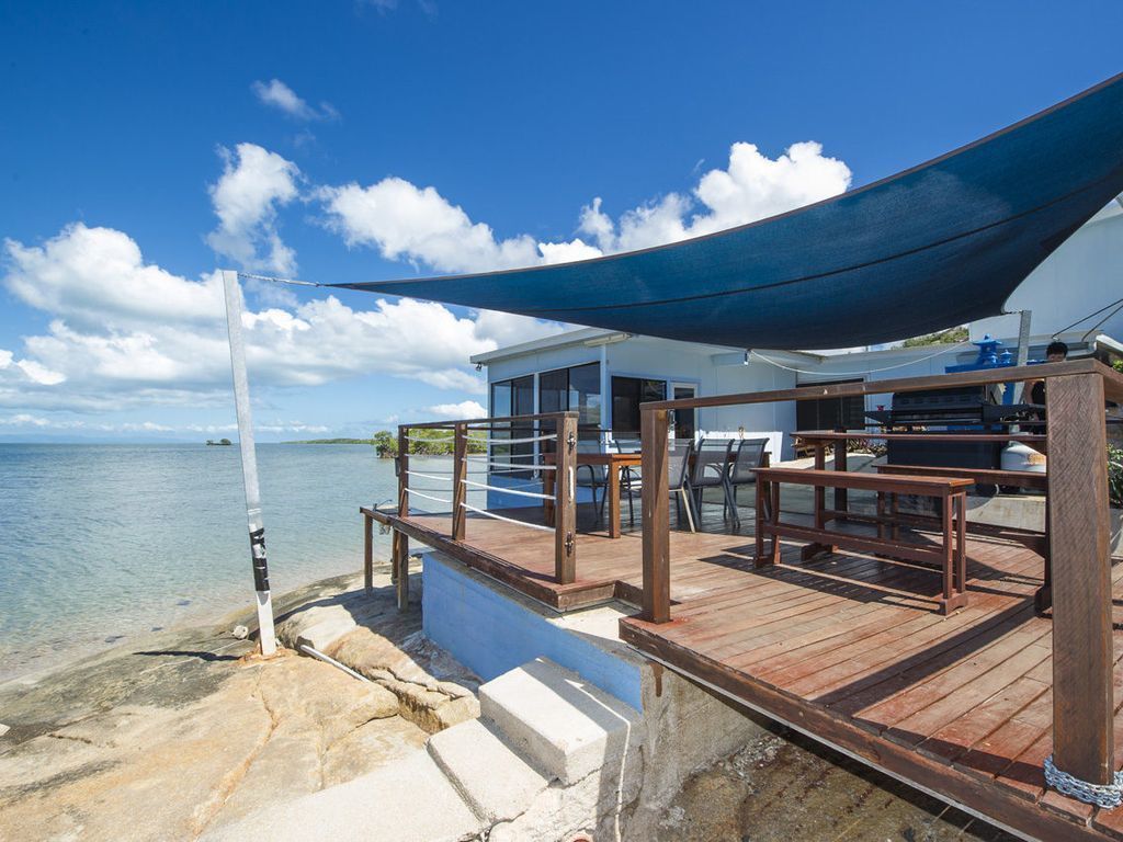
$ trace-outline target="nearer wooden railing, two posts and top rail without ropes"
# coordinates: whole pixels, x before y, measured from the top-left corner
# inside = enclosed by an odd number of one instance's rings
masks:
[[[1112,782],[1114,659],[1104,401],[1123,403],[1123,375],[1098,361],[1078,359],[642,404],[643,619],[651,623],[672,619],[669,495],[657,477],[667,475],[667,432],[675,410],[1038,379],[1047,381],[1053,762],[1083,780]]]

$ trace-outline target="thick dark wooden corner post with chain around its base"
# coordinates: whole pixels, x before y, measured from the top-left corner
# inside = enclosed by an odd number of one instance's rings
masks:
[[[1104,383],[1097,374],[1050,377],[1049,537],[1053,612],[1053,762],[1110,784],[1112,580],[1107,525]]]

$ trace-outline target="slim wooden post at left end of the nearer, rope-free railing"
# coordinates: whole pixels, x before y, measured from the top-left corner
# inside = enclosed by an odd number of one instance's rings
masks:
[[[640,412],[642,446],[643,620],[670,620],[670,495],[667,479],[669,410]]]

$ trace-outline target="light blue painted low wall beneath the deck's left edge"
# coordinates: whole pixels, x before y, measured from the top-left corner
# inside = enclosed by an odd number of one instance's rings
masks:
[[[421,576],[426,637],[485,681],[545,657],[642,710],[637,665],[559,629],[506,596],[501,585],[476,582],[432,553],[426,553]]]

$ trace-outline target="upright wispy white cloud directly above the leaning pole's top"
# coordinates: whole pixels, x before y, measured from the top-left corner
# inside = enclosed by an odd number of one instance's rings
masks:
[[[218,228],[207,242],[241,268],[293,275],[296,254],[277,231],[277,209],[300,195],[300,170],[291,161],[255,144],[220,148],[222,175],[210,186]]]

